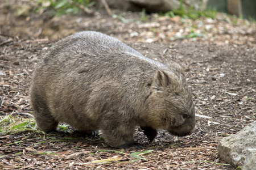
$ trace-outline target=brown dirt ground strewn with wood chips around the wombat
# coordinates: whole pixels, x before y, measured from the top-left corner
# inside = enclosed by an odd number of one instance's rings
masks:
[[[0,6],[2,118],[12,114],[14,121],[33,121],[28,88],[34,68],[58,39],[82,30],[117,37],[159,62],[175,59],[186,71],[200,115],[195,132],[187,137],[159,130],[148,143],[143,131],[135,129],[135,141],[143,150],[115,150],[100,137],[73,132],[0,131],[0,169],[235,169],[218,156],[217,144],[255,121],[255,23],[240,19],[235,23],[225,14],[214,20],[151,14],[142,22],[141,13],[122,11],[113,11],[119,18],[105,11],[59,18],[47,18],[47,11],[42,11],[17,18],[13,8],[7,12],[6,8]],[[196,36],[189,38],[192,33]],[[134,156],[139,151],[148,153]]]

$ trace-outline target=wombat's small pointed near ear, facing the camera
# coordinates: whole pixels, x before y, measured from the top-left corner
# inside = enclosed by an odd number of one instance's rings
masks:
[[[158,70],[154,78],[154,84],[157,87],[167,87],[170,83],[170,76],[165,71]]]

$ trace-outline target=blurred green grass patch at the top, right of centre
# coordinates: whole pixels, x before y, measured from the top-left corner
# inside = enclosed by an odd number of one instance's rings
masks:
[[[206,18],[215,19],[217,16],[217,10],[215,8],[210,9],[208,8],[205,11],[202,10],[195,10],[193,6],[189,7],[188,10],[185,9],[183,6],[183,1],[180,1],[180,7],[178,9],[174,9],[172,11],[168,11],[164,13],[164,16],[170,16],[174,18],[175,16],[181,16],[182,18],[191,18],[191,19],[199,19],[201,16]]]

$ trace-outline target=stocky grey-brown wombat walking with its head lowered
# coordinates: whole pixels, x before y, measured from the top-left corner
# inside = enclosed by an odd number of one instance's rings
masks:
[[[110,146],[141,147],[134,128],[152,141],[158,129],[189,135],[195,108],[183,69],[142,56],[100,32],[84,31],[53,45],[34,71],[30,101],[36,123],[52,131],[65,122],[102,130]]]

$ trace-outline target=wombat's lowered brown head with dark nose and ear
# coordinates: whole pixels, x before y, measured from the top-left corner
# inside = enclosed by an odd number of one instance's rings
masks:
[[[149,110],[152,123],[171,134],[184,136],[195,129],[195,108],[184,71],[176,63],[158,70],[151,83]]]

